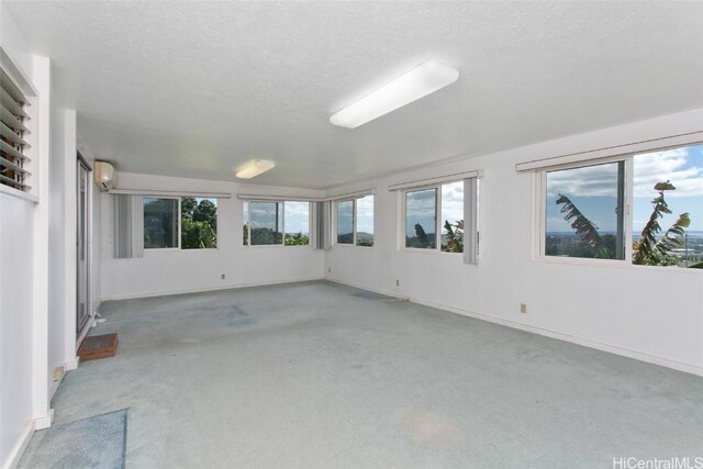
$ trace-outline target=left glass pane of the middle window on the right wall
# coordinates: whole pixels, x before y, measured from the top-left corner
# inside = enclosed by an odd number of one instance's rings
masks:
[[[405,247],[436,248],[437,190],[405,193]]]

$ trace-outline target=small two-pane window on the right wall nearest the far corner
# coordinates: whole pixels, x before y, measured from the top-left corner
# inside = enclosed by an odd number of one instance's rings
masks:
[[[373,246],[372,194],[337,202],[337,244]]]

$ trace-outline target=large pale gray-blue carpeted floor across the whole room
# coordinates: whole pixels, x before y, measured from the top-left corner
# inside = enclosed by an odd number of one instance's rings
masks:
[[[703,456],[703,378],[328,282],[108,302],[56,422],[129,468],[593,468]]]

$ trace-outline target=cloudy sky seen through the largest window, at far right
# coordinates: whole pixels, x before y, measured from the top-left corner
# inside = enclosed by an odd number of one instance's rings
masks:
[[[672,214],[659,223],[667,230],[679,214],[689,212],[689,231],[703,231],[703,145],[654,152],[634,156],[633,233],[641,232],[651,214],[651,201],[658,196],[657,182],[669,180],[677,189],[665,192]],[[572,232],[560,206],[565,194],[600,231],[615,231],[617,164],[551,171],[547,174],[547,231]]]

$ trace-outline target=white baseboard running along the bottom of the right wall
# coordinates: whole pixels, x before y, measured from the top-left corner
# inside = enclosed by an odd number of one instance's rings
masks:
[[[422,304],[424,306],[436,308],[438,310],[449,311],[451,313],[460,314],[462,316],[473,317],[476,320],[481,320],[481,321],[486,321],[486,322],[489,322],[489,323],[499,324],[499,325],[502,325],[502,326],[505,326],[505,327],[512,327],[512,328],[529,332],[529,333],[533,333],[533,334],[543,335],[545,337],[556,338],[556,339],[559,339],[559,340],[569,342],[571,344],[582,345],[584,347],[594,348],[596,350],[607,351],[607,353],[611,353],[611,354],[621,355],[623,357],[633,358],[635,360],[645,361],[645,362],[652,364],[652,365],[659,365],[659,366],[671,368],[671,369],[674,369],[674,370],[678,370],[678,371],[684,371],[684,372],[688,372],[688,373],[691,373],[691,375],[696,375],[696,376],[703,377],[703,367],[698,367],[695,365],[685,364],[685,362],[672,360],[672,359],[669,359],[669,358],[658,357],[656,355],[646,354],[644,351],[632,350],[629,348],[620,347],[620,346],[611,345],[611,344],[605,344],[605,343],[601,343],[601,342],[596,342],[596,340],[591,340],[591,339],[579,337],[579,336],[563,334],[563,333],[560,333],[560,332],[555,332],[555,331],[546,330],[546,328],[543,328],[543,327],[531,326],[531,325],[527,325],[527,324],[523,324],[523,323],[518,323],[518,322],[514,322],[514,321],[510,321],[510,320],[504,320],[504,319],[501,319],[501,317],[494,317],[494,316],[490,316],[488,314],[481,314],[481,313],[477,313],[477,312],[473,312],[473,311],[460,310],[458,308],[449,306],[447,304],[436,303],[434,301],[423,300],[421,298],[414,298],[414,297],[404,298],[402,295],[397,294],[395,292],[388,292],[388,291],[383,291],[381,289],[371,289],[371,288],[369,288],[367,286],[354,284],[353,282],[337,280],[337,279],[334,279],[332,277],[327,277],[326,280],[335,282],[335,283],[341,283],[341,284],[346,284],[346,286],[349,286],[349,287],[359,288],[359,289],[362,289],[362,290],[373,291],[375,293],[387,294],[387,295],[391,295],[391,297],[409,300],[409,301],[411,301],[413,303]]]

